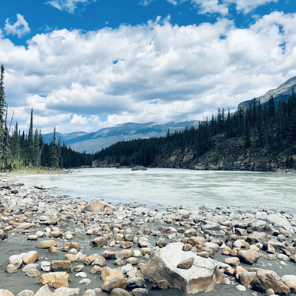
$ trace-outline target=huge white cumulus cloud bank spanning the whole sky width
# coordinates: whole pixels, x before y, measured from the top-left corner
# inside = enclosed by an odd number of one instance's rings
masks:
[[[19,125],[28,124],[33,108],[34,127],[62,133],[233,111],[295,76],[295,52],[296,14],[283,12],[244,29],[226,18],[178,26],[157,17],[37,34],[27,48],[0,39],[7,102],[19,107]]]

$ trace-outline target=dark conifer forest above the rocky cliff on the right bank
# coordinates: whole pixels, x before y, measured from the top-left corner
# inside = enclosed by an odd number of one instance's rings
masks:
[[[285,149],[296,153],[296,95],[292,87],[287,101],[279,99],[276,104],[271,95],[268,102],[261,104],[254,98],[253,104],[244,109],[242,106],[235,113],[229,108],[218,109],[217,115],[205,118],[197,126],[186,127],[182,131],[166,136],[149,139],[120,141],[97,151],[94,159],[108,160],[120,165],[157,166],[163,157],[169,157],[174,151],[184,151],[191,147],[194,158],[198,158],[214,147],[214,137],[241,138],[245,149],[265,149],[270,155],[279,154]],[[293,159],[287,164],[294,166]]]

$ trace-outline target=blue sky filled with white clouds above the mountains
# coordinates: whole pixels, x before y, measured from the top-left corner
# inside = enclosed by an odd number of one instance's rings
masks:
[[[0,64],[21,131],[198,120],[296,75],[295,0],[10,0]]]

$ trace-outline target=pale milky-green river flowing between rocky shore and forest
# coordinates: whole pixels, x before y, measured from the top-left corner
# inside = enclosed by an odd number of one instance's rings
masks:
[[[88,168],[72,175],[40,175],[21,178],[26,186],[50,187],[47,194],[70,195],[112,204],[146,205],[154,210],[186,205],[223,210],[262,210],[296,214],[295,174],[241,171],[201,171],[149,168]],[[57,187],[57,188],[54,188]]]

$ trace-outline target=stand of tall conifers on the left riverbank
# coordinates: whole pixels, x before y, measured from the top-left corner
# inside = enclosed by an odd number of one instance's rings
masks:
[[[0,73],[0,159],[1,170],[29,168],[77,168],[91,166],[93,155],[85,151],[74,151],[65,142],[61,144],[56,137],[56,130],[50,143],[45,143],[46,136],[41,130],[33,128],[33,109],[30,115],[30,127],[27,133],[20,131],[16,122],[12,126],[13,116],[8,120],[8,104],[4,88],[4,65]]]

